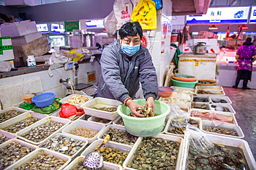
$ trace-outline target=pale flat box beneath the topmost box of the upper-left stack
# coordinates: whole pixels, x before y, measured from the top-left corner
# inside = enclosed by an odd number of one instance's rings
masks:
[[[12,37],[12,45],[25,45],[42,37],[41,32],[35,32],[24,36]]]

